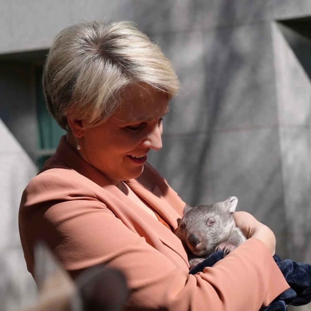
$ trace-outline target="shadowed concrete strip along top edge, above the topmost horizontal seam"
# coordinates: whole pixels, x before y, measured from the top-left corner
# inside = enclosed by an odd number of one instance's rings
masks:
[[[148,33],[250,24],[271,16],[268,0],[134,0],[134,20]]]

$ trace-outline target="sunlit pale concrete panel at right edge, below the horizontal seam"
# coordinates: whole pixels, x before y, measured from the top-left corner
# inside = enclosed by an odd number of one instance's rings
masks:
[[[308,131],[305,128],[280,128],[284,214],[290,234],[289,251],[299,260],[309,260],[311,234],[311,178]],[[296,255],[297,254],[297,255]]]

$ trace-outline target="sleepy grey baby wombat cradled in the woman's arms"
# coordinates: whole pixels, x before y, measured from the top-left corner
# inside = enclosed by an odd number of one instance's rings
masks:
[[[246,240],[232,215],[237,204],[231,196],[211,205],[185,206],[175,234],[188,251],[190,269],[217,250],[227,255]]]

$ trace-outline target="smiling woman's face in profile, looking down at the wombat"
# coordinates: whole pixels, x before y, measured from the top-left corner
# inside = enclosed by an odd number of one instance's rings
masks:
[[[142,174],[150,149],[162,147],[162,117],[168,96],[147,84],[131,85],[121,95],[121,106],[99,126],[79,138],[84,160],[118,184]]]

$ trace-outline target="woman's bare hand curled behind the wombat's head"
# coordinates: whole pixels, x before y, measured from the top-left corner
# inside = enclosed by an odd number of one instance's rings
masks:
[[[269,227],[244,211],[234,212],[233,216],[236,225],[243,231],[247,239],[256,238],[261,240],[267,246],[272,256],[275,254],[276,239]]]

